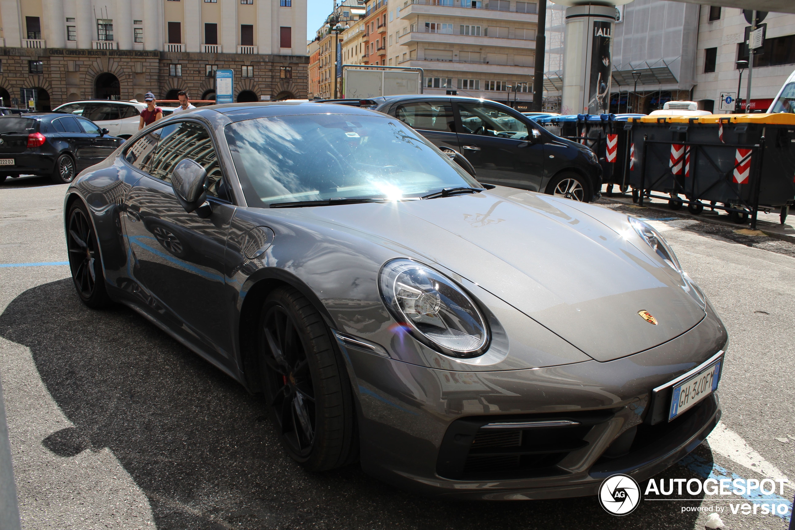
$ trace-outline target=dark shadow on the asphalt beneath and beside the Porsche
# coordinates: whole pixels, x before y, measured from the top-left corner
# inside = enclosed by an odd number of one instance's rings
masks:
[[[0,335],[30,348],[49,393],[75,425],[41,443],[64,458],[108,447],[148,497],[157,528],[613,529],[695,523],[696,516],[681,514],[676,502],[644,502],[619,519],[595,497],[436,501],[378,482],[356,465],[306,473],[282,452],[258,397],[133,311],[84,307],[71,279],[17,296],[0,315]],[[712,460],[708,449],[697,451]],[[674,466],[664,476],[695,475]]]

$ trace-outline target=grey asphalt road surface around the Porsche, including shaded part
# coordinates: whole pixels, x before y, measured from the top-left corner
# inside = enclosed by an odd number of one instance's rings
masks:
[[[699,505],[723,507],[725,528],[785,528],[732,514],[737,498],[643,501],[618,519],[595,497],[434,501],[358,466],[308,474],[223,373],[126,308],[85,308],[67,266],[7,266],[66,261],[64,191],[0,185],[0,377],[23,528],[704,528],[707,513],[681,512]],[[731,336],[720,432],[661,477],[795,480],[795,246],[604,205],[663,219]]]

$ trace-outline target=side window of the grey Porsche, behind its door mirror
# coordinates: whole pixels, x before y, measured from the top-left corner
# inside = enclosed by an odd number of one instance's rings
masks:
[[[155,146],[151,148],[153,142]],[[138,144],[142,146],[139,148]],[[130,161],[131,156],[137,158]],[[198,123],[177,122],[162,127],[136,141],[127,151],[127,161],[168,183],[171,182],[173,168],[185,158],[200,164],[207,171],[207,195],[228,199],[210,133]]]

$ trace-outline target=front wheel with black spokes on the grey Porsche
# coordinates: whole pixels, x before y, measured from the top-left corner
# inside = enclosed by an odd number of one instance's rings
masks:
[[[297,290],[277,288],[259,324],[263,390],[287,453],[310,471],[352,462],[351,383],[320,313]]]

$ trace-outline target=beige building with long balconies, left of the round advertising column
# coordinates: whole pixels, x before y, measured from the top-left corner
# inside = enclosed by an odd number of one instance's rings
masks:
[[[533,100],[537,2],[394,2],[386,65],[423,68],[425,94],[453,90],[520,108]]]

